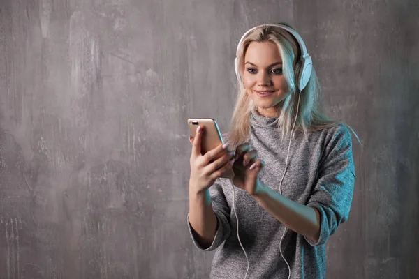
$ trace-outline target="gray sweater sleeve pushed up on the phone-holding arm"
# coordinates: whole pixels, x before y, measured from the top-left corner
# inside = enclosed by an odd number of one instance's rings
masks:
[[[219,179],[217,179],[213,186],[210,187],[211,204],[216,216],[216,233],[214,241],[211,246],[204,249],[197,241],[196,232],[193,230],[191,223],[189,223],[188,213],[188,227],[193,243],[200,250],[212,251],[218,248],[230,235],[230,207],[227,204],[226,197],[223,193],[223,188]]]

